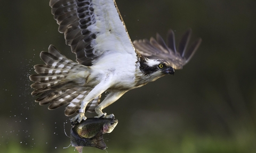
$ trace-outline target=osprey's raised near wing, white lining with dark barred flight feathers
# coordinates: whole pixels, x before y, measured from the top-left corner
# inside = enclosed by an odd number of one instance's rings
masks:
[[[50,6],[78,63],[91,66],[105,51],[136,56],[114,0],[51,0]]]

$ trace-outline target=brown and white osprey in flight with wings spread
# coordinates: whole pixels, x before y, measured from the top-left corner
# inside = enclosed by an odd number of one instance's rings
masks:
[[[52,14],[65,34],[66,43],[76,54],[74,62],[53,45],[41,52],[46,65],[35,65],[37,74],[31,94],[39,104],[55,109],[68,104],[65,115],[81,122],[86,111],[97,117],[113,118],[102,112],[124,93],[181,69],[197,50],[197,39],[187,50],[191,30],[182,37],[178,50],[174,33],[167,33],[167,44],[156,35],[131,42],[115,0],[51,0]],[[101,94],[108,92],[100,102]]]

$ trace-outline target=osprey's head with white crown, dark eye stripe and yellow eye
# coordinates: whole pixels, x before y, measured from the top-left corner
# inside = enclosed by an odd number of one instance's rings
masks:
[[[153,77],[161,77],[166,74],[174,75],[174,69],[170,63],[162,59],[146,59],[145,62],[141,63],[140,69],[145,75],[152,75]]]

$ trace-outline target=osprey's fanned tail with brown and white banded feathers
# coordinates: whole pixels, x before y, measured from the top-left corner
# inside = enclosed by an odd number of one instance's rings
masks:
[[[40,57],[46,65],[34,66],[37,74],[29,76],[35,82],[31,85],[35,90],[31,94],[38,96],[35,101],[41,105],[50,103],[49,109],[69,104],[65,115],[73,115],[90,92],[88,88],[79,87],[79,83],[76,83],[76,80],[81,80],[76,78],[76,73],[82,71],[85,76],[90,75],[89,68],[67,59],[53,45],[50,45],[49,52],[41,52]],[[99,101],[100,96],[89,102],[86,110],[94,111]]]

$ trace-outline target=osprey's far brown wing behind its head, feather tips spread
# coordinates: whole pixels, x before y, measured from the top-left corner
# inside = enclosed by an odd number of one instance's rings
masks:
[[[202,39],[198,38],[187,50],[190,36],[191,29],[188,29],[181,38],[178,50],[175,47],[173,30],[169,30],[167,33],[167,44],[159,34],[156,34],[156,39],[153,37],[150,38],[150,41],[140,39],[134,41],[133,45],[135,49],[147,58],[164,59],[169,61],[174,69],[182,69],[191,57],[193,57],[202,42]]]

